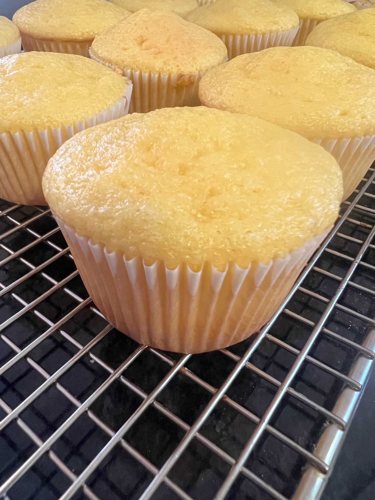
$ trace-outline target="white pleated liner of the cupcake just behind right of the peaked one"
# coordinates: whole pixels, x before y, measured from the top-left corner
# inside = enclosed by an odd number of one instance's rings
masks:
[[[225,43],[228,50],[228,59],[233,59],[237,55],[258,52],[264,48],[290,46],[297,31],[298,26],[287,31],[278,31],[275,33],[244,35],[215,34]]]

